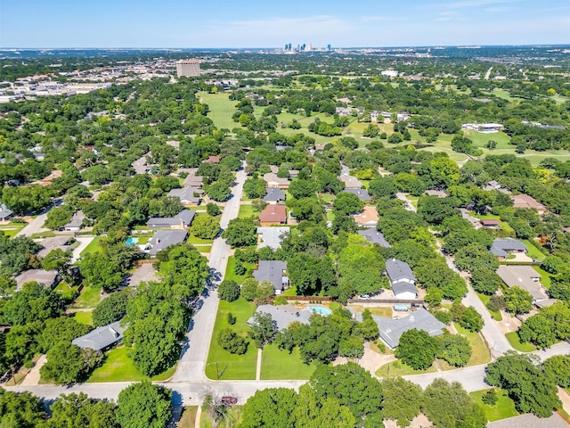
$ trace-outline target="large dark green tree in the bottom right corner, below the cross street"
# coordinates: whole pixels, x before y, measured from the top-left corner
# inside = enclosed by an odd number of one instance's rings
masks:
[[[561,406],[556,385],[528,355],[508,352],[487,366],[485,381],[509,391],[520,413],[549,417]]]

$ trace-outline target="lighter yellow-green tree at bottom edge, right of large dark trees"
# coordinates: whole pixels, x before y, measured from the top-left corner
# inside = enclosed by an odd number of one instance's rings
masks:
[[[422,391],[416,383],[401,377],[388,377],[382,380],[382,392],[382,407],[386,419],[393,419],[398,426],[404,427],[419,415]]]

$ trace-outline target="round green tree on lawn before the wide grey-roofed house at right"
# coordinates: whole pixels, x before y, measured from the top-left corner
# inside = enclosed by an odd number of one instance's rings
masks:
[[[403,332],[395,356],[415,370],[426,370],[434,364],[437,354],[437,340],[428,332],[412,328]]]

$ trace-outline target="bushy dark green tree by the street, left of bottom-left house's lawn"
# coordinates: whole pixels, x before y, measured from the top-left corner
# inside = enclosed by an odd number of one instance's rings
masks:
[[[70,342],[60,342],[47,352],[47,362],[40,368],[46,381],[76,383],[85,381],[88,374],[102,362],[102,354],[90,348],[80,349]]]

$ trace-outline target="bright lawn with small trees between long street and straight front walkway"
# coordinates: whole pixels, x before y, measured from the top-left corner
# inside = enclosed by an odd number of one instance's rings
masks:
[[[220,300],[217,309],[216,324],[212,333],[212,342],[208,352],[208,362],[206,365],[206,375],[210,379],[217,379],[218,374],[220,380],[232,379],[255,379],[256,378],[256,361],[257,349],[253,341],[249,340],[248,351],[244,355],[231,354],[217,344],[217,335],[224,328],[232,328],[233,331],[243,337],[247,337],[249,326],[247,321],[256,311],[256,305],[248,300],[238,299],[227,302]],[[236,323],[229,325],[227,320],[228,313],[232,313],[236,317]],[[216,372],[217,366],[217,372]]]

